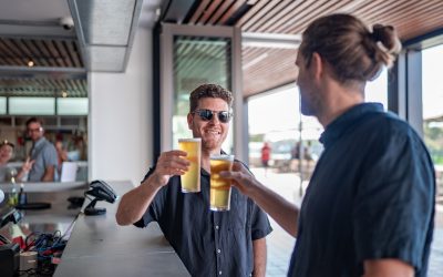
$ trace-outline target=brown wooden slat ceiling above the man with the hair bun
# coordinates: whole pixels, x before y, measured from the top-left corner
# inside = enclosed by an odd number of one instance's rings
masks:
[[[333,12],[354,14],[369,25],[394,25],[402,41],[443,28],[442,0],[203,0],[183,23],[300,34],[313,19]],[[245,96],[293,82],[296,53],[296,49],[244,48]]]

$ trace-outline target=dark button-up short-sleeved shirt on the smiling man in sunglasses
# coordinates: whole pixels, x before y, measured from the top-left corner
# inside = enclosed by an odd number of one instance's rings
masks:
[[[229,212],[210,211],[209,174],[204,170],[200,189],[182,193],[179,176],[171,177],[135,226],[157,222],[192,276],[249,276],[253,240],[272,230],[267,215],[235,187]]]

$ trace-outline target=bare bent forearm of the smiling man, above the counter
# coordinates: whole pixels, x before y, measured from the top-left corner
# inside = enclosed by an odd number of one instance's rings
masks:
[[[117,224],[130,225],[140,220],[159,188],[161,186],[155,184],[151,175],[138,187],[123,195],[115,214]]]

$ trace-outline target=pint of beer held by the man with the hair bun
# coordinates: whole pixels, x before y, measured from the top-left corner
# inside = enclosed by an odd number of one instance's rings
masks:
[[[230,179],[220,177],[219,172],[231,171],[233,155],[210,156],[210,209],[229,211],[230,207]]]

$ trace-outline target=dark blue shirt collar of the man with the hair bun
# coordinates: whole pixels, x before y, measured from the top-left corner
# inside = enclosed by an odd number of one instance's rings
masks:
[[[324,148],[328,147],[344,134],[353,123],[373,112],[383,112],[383,105],[380,103],[361,103],[352,106],[326,127],[320,136],[320,142],[324,145]]]

